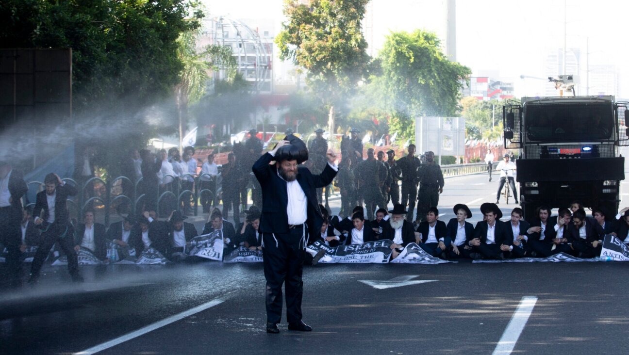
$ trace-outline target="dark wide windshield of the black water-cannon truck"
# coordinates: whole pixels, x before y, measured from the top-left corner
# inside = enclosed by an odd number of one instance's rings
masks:
[[[528,105],[526,137],[531,141],[593,141],[613,139],[610,104]]]

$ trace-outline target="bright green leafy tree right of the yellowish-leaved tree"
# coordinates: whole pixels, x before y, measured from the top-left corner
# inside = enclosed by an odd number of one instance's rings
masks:
[[[379,53],[390,105],[396,112],[393,126],[404,139],[413,138],[415,116],[455,116],[460,89],[471,71],[450,62],[434,33],[393,32]],[[393,131],[393,127],[392,127]]]

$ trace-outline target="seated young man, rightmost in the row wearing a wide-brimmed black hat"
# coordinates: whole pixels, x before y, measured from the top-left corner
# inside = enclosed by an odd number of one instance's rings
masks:
[[[504,259],[505,255],[501,250],[501,245],[511,246],[513,243],[506,236],[507,226],[499,221],[503,212],[496,204],[486,205],[486,209],[481,210],[485,215],[485,221],[477,224],[474,231],[474,239],[468,242],[472,247],[470,258],[472,259]]]

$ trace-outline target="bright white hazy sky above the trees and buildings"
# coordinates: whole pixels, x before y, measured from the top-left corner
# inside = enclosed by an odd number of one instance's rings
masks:
[[[212,14],[232,18],[273,19],[279,31],[282,0],[204,0]],[[590,65],[616,65],[620,74],[617,97],[629,97],[629,46],[626,16],[629,3],[611,0],[458,0],[457,60],[474,75],[498,75],[515,84],[516,96],[539,94],[548,50],[564,46],[564,4],[567,48],[581,52],[581,87],[585,85],[586,52]],[[372,0],[365,16],[369,53],[377,53],[389,31],[423,28],[445,41],[445,0]],[[586,49],[589,38],[589,49]],[[569,53],[570,55],[570,53]],[[560,73],[557,73],[560,74]],[[567,73],[576,74],[576,73]],[[579,88],[577,87],[577,88]],[[584,94],[577,90],[577,94]]]

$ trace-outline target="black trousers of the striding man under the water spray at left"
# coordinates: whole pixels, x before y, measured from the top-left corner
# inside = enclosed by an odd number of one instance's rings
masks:
[[[74,227],[69,223],[53,223],[48,226],[47,230],[42,231],[42,244],[37,248],[37,252],[33,258],[31,275],[39,275],[40,270],[42,270],[43,261],[48,257],[48,252],[55,243],[60,246],[68,258],[68,271],[70,271],[70,275],[78,275],[79,259],[77,259],[77,253],[74,250]]]

